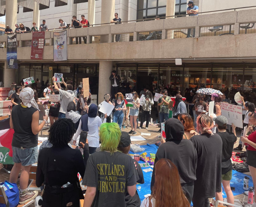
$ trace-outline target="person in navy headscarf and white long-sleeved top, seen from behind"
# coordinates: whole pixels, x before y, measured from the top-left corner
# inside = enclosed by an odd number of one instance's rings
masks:
[[[88,132],[87,140],[89,143],[89,153],[90,155],[96,151],[99,147],[99,127],[102,123],[106,123],[108,115],[105,114],[104,121],[101,121],[101,118],[97,116],[98,107],[95,104],[91,104],[88,110],[88,114],[85,114],[81,117],[78,129],[73,136],[73,144],[77,145],[78,136],[82,131]]]

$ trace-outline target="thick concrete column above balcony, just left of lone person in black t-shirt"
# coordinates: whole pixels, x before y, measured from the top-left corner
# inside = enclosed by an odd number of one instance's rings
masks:
[[[101,23],[109,23],[114,19],[115,0],[101,1]]]

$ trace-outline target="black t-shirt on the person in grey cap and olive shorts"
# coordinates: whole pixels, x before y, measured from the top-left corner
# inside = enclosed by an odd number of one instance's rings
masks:
[[[232,170],[232,157],[233,146],[237,137],[232,132],[217,132],[222,139],[222,156],[221,156],[221,174],[224,175]]]

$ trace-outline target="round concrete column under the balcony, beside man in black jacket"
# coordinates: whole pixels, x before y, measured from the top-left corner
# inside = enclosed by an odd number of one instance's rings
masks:
[[[109,76],[113,70],[113,61],[100,61],[99,62],[99,91],[98,103],[104,101],[106,93],[111,94],[111,80]]]

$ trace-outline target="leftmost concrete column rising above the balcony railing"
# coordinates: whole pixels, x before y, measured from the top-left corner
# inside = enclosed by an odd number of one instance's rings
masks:
[[[17,0],[6,1],[5,10],[5,25],[9,25],[14,31],[17,23]]]

